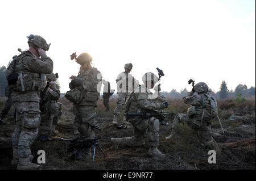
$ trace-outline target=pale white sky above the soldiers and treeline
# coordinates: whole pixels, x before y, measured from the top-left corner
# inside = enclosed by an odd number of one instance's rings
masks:
[[[0,22],[0,66],[28,49],[26,36],[40,35],[51,43],[61,92],[79,72],[73,52],[88,52],[115,90],[126,63],[140,83],[162,69],[163,91],[190,90],[190,78],[214,91],[222,81],[230,90],[255,86],[253,0],[9,0],[0,1]]]

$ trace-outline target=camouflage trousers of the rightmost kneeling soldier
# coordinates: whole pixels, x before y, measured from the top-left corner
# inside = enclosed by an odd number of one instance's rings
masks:
[[[212,137],[212,128],[209,123],[205,123],[203,121],[201,125],[201,121],[193,120],[189,118],[187,114],[179,113],[175,116],[174,123],[172,124],[172,136],[175,136],[175,134],[179,134],[177,131],[180,123],[187,123],[188,126],[196,132],[196,135],[199,138],[201,145],[208,146],[213,149],[218,149],[216,146],[217,143]]]

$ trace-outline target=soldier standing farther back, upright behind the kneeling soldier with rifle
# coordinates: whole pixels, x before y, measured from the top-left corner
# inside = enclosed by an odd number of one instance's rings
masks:
[[[117,107],[114,110],[113,125],[118,125],[119,128],[125,128],[127,124],[126,117],[123,117],[122,123],[119,123],[118,117],[121,114],[123,105],[130,92],[138,87],[137,81],[133,75],[130,74],[131,69],[133,69],[133,64],[125,64],[125,71],[118,75],[118,78],[115,80],[117,82]]]

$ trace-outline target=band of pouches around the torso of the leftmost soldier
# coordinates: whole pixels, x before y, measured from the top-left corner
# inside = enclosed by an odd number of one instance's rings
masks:
[[[46,74],[38,73],[19,73],[16,81],[15,91],[40,91],[47,85]]]

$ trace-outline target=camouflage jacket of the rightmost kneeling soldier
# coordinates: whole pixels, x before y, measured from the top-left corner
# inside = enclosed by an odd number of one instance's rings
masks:
[[[204,110],[203,120],[207,122],[212,120],[212,117],[209,116],[209,112],[211,109],[210,101],[208,100],[206,94],[210,94],[210,91],[208,91],[205,94],[194,94],[194,92],[191,91],[188,93],[187,96],[183,97],[183,102],[185,104],[191,104],[191,106],[195,108],[195,114],[190,117],[196,121],[201,121],[203,110]],[[188,108],[188,110],[190,108]]]

